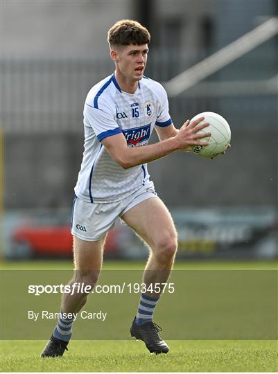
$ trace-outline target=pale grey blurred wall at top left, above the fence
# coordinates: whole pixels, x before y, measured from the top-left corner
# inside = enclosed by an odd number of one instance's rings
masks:
[[[107,30],[132,17],[132,1],[1,1],[3,57],[92,57],[108,51]]]

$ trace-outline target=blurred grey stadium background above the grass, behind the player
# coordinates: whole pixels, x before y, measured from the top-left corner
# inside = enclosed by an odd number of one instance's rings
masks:
[[[164,83],[276,15],[275,0],[2,1],[3,258],[71,256],[82,107],[114,69],[106,33],[116,20],[150,29],[146,75]],[[225,157],[149,164],[179,258],[277,257],[277,35],[169,103],[177,127],[212,111],[232,128]],[[146,258],[146,249],[117,224],[105,256]]]

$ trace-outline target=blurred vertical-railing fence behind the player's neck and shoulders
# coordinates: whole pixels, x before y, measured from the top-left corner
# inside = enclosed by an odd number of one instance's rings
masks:
[[[151,51],[146,75],[166,82],[203,57],[181,55],[178,51]],[[273,121],[268,118],[277,115],[277,91],[265,92],[262,84],[261,91],[256,94],[251,84],[249,95],[247,87],[244,96],[239,90],[238,94],[233,92],[229,96],[229,92],[223,94],[223,89],[218,92],[217,85],[214,89],[211,81],[268,80],[277,74],[275,62],[273,39],[211,75],[199,89],[197,85],[189,92],[171,98],[171,116],[177,123],[183,123],[187,117],[210,110],[224,112],[225,116],[231,114],[232,120],[236,114],[241,123],[233,121],[234,126],[248,126],[250,116],[252,127],[262,123],[273,126]],[[108,56],[105,60],[3,60],[2,123],[6,134],[82,132],[82,107],[87,92],[113,70]]]

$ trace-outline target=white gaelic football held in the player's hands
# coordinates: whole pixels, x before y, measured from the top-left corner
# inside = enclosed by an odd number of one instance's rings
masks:
[[[207,122],[209,123],[209,126],[199,132],[210,132],[211,136],[200,139],[200,141],[207,141],[209,143],[208,145],[205,147],[202,147],[202,145],[196,145],[192,152],[201,157],[216,157],[227,149],[229,142],[231,141],[231,129],[229,128],[229,123],[227,123],[223,116],[214,112],[203,112],[197,114],[197,116],[191,119],[191,122],[200,117],[205,117],[205,119],[199,124]]]

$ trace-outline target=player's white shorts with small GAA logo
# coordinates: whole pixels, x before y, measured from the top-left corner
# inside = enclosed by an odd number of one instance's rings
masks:
[[[96,242],[114,226],[118,217],[151,197],[157,197],[155,188],[146,186],[142,186],[125,199],[113,203],[90,203],[75,197],[71,215],[71,233],[82,240]]]

